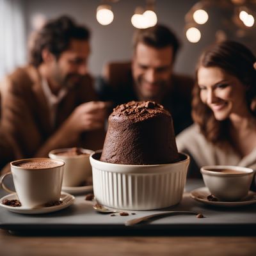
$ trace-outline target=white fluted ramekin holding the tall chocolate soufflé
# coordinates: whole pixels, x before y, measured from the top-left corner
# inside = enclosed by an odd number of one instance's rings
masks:
[[[101,152],[90,156],[93,191],[97,202],[127,210],[152,210],[182,200],[189,156],[171,164],[130,165],[99,161]]]

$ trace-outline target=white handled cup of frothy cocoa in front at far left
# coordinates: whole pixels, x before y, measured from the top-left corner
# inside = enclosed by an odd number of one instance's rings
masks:
[[[63,180],[63,161],[49,158],[30,158],[13,161],[11,171],[1,176],[1,187],[9,193],[17,193],[23,207],[42,207],[60,200]],[[15,191],[4,184],[12,175]]]

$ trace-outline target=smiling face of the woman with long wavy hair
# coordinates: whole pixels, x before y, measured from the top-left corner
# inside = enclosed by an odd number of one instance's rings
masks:
[[[248,113],[246,86],[218,67],[200,67],[197,73],[200,98],[217,120]]]

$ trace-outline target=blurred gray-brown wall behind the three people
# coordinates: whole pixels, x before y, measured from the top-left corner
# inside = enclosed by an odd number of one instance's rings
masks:
[[[4,1],[4,0],[0,0]],[[51,19],[59,15],[70,15],[77,22],[85,24],[92,31],[92,54],[90,56],[90,70],[93,75],[99,75],[102,66],[107,61],[129,60],[132,54],[132,33],[134,27],[131,24],[131,17],[137,6],[146,6],[146,0],[119,0],[113,1],[111,7],[115,18],[108,26],[102,26],[96,20],[96,10],[99,4],[104,1],[98,0],[5,0],[17,4],[19,2],[20,15],[22,15],[24,26],[20,29],[24,32],[22,36],[16,38],[12,44],[20,44],[20,57],[26,62],[26,44],[28,36],[40,23],[40,20]],[[155,12],[158,22],[169,26],[177,33],[182,42],[182,49],[179,52],[175,70],[178,72],[193,74],[198,55],[206,47],[216,40],[216,33],[219,37],[237,40],[246,44],[256,54],[256,29],[255,24],[251,28],[239,29],[234,20],[234,10],[232,5],[235,2],[246,2],[244,0],[212,0],[202,1],[209,4],[207,12],[209,20],[204,25],[198,26],[202,33],[199,42],[193,44],[186,38],[186,28],[189,22],[185,22],[185,15],[198,1],[196,0],[156,0]],[[216,3],[223,3],[220,6]],[[255,13],[256,1],[250,2],[250,8]],[[0,2],[1,3],[1,2]],[[187,15],[188,16],[188,15]],[[255,15],[256,17],[256,15]],[[187,17],[188,18],[188,17]],[[0,18],[1,20],[1,18]],[[19,24],[19,26],[21,26]],[[1,21],[0,21],[1,29]],[[10,37],[8,40],[12,40]],[[8,44],[8,42],[6,43]],[[1,54],[0,54],[1,56]],[[16,61],[20,65],[22,61]],[[6,72],[10,71],[10,68]]]

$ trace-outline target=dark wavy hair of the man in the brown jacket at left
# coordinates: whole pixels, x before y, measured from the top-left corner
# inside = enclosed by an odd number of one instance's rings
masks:
[[[45,48],[58,60],[61,53],[68,49],[72,39],[89,40],[90,31],[67,16],[49,20],[42,29],[36,31],[29,51],[29,63],[38,67],[43,61],[42,50]]]

